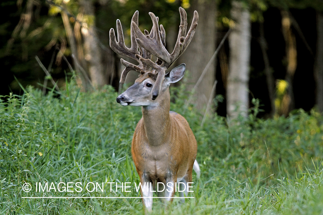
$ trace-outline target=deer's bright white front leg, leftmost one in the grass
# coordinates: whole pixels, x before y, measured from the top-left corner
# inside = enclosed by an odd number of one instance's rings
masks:
[[[153,192],[151,192],[151,190],[153,190],[154,186],[151,182],[151,180],[145,175],[143,174],[143,176],[140,177],[140,182],[141,182],[141,188],[140,188],[140,192],[141,192],[141,200],[142,200],[142,204],[145,208],[145,210],[148,210],[149,212],[151,212],[152,209],[152,195]],[[150,198],[147,198],[150,197]]]

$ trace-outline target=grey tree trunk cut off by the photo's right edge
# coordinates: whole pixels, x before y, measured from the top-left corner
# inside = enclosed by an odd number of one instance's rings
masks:
[[[323,14],[316,15],[316,56],[314,64],[314,77],[316,83],[316,106],[319,112],[323,112]]]

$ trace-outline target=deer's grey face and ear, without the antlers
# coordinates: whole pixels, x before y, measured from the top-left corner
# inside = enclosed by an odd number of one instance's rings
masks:
[[[167,73],[161,83],[158,98],[163,98],[162,94],[171,83],[178,82],[185,73],[185,64],[181,64]],[[157,75],[154,73],[144,73],[129,87],[124,93],[117,97],[117,102],[122,106],[156,106],[159,99],[152,99],[152,88],[156,83]]]

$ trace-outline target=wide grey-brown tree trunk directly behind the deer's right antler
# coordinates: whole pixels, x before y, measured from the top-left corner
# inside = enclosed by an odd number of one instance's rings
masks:
[[[194,84],[201,76],[206,64],[215,51],[215,14],[216,4],[214,0],[193,0],[189,15],[193,16],[193,10],[199,13],[199,21],[194,37],[182,54],[178,63],[185,63],[188,75],[188,90],[191,91]],[[192,20],[192,19],[191,19]],[[189,22],[191,23],[191,22]],[[189,28],[189,26],[187,26]],[[196,108],[202,111],[206,107],[210,97],[214,97],[212,86],[215,81],[215,62],[209,66],[202,82],[197,86],[193,99]]]

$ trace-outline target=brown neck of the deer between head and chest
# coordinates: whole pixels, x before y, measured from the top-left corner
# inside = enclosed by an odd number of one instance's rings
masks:
[[[142,107],[143,125],[146,137],[149,144],[154,146],[167,142],[166,139],[169,135],[166,134],[171,131],[169,89],[167,88],[163,93],[160,93],[157,99],[159,105],[154,107]]]

